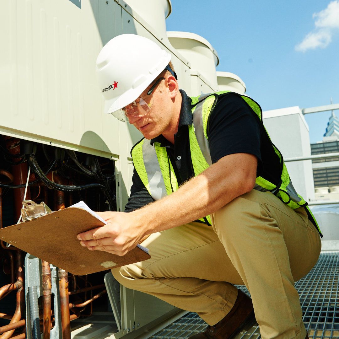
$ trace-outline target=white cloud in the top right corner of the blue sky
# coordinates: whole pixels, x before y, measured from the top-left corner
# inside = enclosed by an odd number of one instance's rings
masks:
[[[339,0],[331,1],[325,9],[314,13],[313,19],[315,19],[316,28],[295,46],[295,50],[298,52],[326,48],[330,44],[333,34],[339,28]]]

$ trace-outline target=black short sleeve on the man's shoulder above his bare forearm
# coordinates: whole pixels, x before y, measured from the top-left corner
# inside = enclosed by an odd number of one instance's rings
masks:
[[[249,153],[258,158],[257,173],[261,173],[261,128],[254,114],[237,94],[218,98],[207,125],[212,163],[229,154]]]

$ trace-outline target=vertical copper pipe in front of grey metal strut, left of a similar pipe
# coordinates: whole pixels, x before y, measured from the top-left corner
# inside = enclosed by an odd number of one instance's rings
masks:
[[[47,261],[42,260],[42,290],[43,290],[43,338],[51,337],[51,295],[52,277],[51,266]]]

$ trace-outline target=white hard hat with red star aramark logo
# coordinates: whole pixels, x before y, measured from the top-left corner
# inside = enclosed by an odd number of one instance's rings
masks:
[[[171,55],[155,42],[134,34],[109,40],[97,58],[97,79],[105,98],[104,113],[124,120],[120,109],[136,100],[164,70]]]

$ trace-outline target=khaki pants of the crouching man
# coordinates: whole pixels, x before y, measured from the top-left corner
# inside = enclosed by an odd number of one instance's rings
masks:
[[[304,339],[294,282],[317,262],[321,242],[303,208],[293,211],[270,192],[252,190],[212,215],[149,236],[151,259],[112,270],[124,286],[156,296],[208,324],[250,291],[263,339]]]

